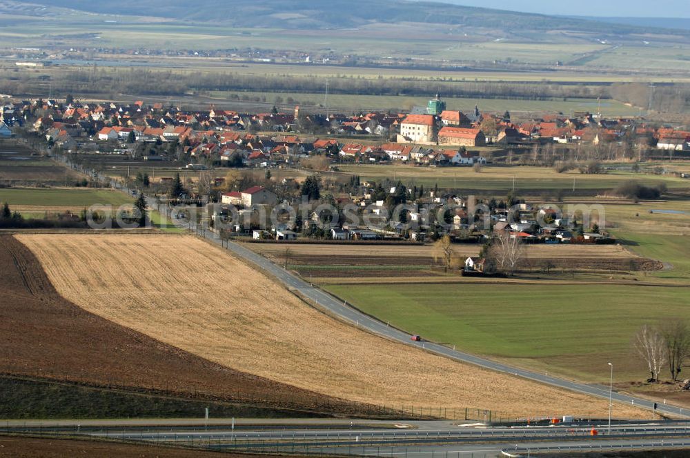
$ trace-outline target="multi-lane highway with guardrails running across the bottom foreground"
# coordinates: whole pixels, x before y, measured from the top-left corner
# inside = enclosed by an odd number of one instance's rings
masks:
[[[50,437],[92,437],[128,442],[192,446],[237,452],[296,455],[353,455],[381,457],[498,457],[509,452],[527,456],[536,452],[642,450],[690,447],[690,421],[561,424],[558,426],[491,427],[451,421],[385,421],[346,419],[238,419],[229,424],[188,420],[126,420],[66,424],[46,421],[41,426],[8,426],[8,432]],[[4,429],[4,428],[3,428]],[[591,435],[591,430],[599,435]]]

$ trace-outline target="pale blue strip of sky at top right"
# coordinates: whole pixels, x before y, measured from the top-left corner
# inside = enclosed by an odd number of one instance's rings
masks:
[[[690,0],[442,0],[466,6],[563,16],[688,17]]]

